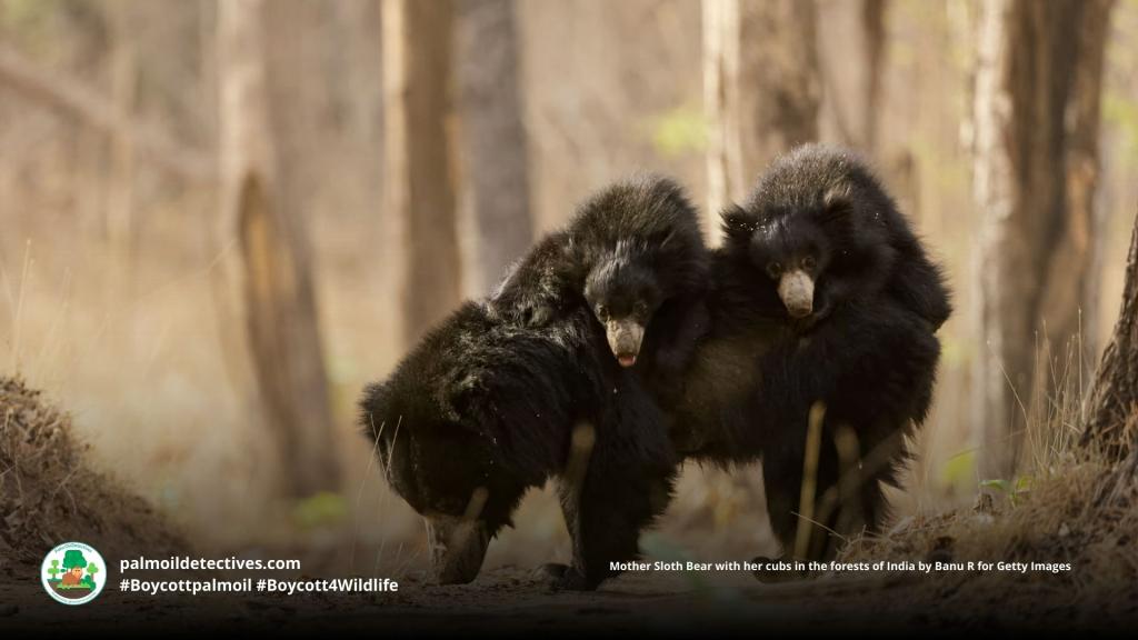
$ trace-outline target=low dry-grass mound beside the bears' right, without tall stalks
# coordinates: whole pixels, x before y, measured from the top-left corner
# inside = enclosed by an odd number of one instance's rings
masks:
[[[1138,426],[1138,413],[1129,421]],[[1131,620],[1138,614],[1135,470],[1094,452],[1056,452],[1019,490],[981,494],[971,509],[906,518],[883,535],[853,540],[841,559],[1067,563],[1071,571],[1058,573],[942,573],[908,598],[1023,620],[1056,610],[1090,624]]]

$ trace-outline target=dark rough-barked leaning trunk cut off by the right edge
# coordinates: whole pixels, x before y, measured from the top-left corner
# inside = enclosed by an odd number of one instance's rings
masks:
[[[1130,237],[1122,311],[1106,345],[1087,403],[1088,419],[1082,444],[1097,445],[1113,460],[1138,452],[1128,442],[1138,426],[1138,216]]]

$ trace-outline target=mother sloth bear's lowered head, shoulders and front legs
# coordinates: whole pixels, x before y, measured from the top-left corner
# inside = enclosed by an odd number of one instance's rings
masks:
[[[594,325],[580,309],[522,327],[467,303],[365,389],[361,421],[388,483],[427,520],[438,582],[473,580],[525,492],[551,477],[574,552],[558,586],[595,589],[610,561],[636,557],[676,458]]]

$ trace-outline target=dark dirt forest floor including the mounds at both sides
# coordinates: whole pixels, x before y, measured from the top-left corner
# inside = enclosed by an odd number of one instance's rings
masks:
[[[167,594],[125,592],[118,558],[196,556],[141,499],[92,470],[71,436],[69,417],[18,380],[0,378],[0,638],[8,631],[207,632],[369,635],[543,635],[683,632],[922,633],[960,630],[1132,630],[1138,622],[1138,489],[1110,468],[1072,462],[1016,503],[913,520],[858,540],[842,561],[1065,561],[1049,572],[822,573],[759,583],[747,572],[643,572],[591,593],[553,591],[533,567],[484,571],[467,585],[437,586],[421,574],[397,592]],[[82,540],[108,560],[93,601],[64,606],[38,574],[46,549]],[[279,556],[280,557],[280,556]],[[212,574],[132,574],[141,580],[208,580]],[[233,572],[234,580],[271,577]],[[283,580],[344,579],[329,575]]]

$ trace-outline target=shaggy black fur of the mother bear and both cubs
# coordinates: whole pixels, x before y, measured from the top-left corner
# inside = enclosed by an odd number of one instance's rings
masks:
[[[527,489],[556,477],[574,539],[561,585],[595,588],[666,507],[676,451],[761,458],[785,551],[805,524],[807,556],[832,556],[836,541],[797,515],[816,403],[813,519],[842,535],[881,525],[882,484],[931,401],[950,312],[939,270],[841,151],[782,158],[723,219],[709,259],[677,186],[608,189],[369,387],[363,420],[393,487],[475,532],[435,550],[440,580],[472,580]]]

